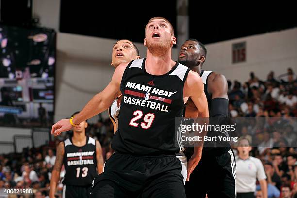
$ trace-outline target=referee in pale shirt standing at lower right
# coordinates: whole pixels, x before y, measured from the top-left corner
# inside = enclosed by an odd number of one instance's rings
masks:
[[[251,151],[249,141],[245,138],[239,141],[238,156],[236,156],[236,190],[237,198],[254,198],[256,180],[261,186],[263,198],[267,198],[267,182],[262,162],[255,157],[249,156]]]

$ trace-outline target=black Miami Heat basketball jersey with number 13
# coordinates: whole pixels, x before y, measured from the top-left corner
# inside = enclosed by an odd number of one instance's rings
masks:
[[[65,177],[63,184],[74,186],[88,186],[97,175],[96,141],[87,136],[86,144],[77,147],[71,138],[64,141]]]

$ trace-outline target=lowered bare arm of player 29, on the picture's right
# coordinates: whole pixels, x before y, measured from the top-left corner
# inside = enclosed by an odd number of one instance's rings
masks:
[[[185,100],[191,99],[193,101],[201,117],[209,117],[208,104],[201,77],[197,73],[190,71],[184,86]],[[201,159],[202,148],[203,145],[194,147],[194,154],[188,162],[187,181],[189,181],[190,174],[193,172],[194,168],[198,165]]]

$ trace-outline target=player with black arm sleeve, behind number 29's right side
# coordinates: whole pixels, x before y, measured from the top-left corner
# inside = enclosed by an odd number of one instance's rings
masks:
[[[179,63],[198,73],[204,83],[204,92],[208,101],[210,117],[228,117],[228,84],[222,74],[202,70],[206,59],[205,46],[196,39],[189,39],[181,45]],[[196,118],[199,115],[195,103],[188,100],[185,117]],[[205,144],[204,144],[205,145]],[[191,156],[191,148],[185,150]],[[221,147],[204,147],[202,158],[186,183],[188,198],[235,198],[236,165],[229,144]]]

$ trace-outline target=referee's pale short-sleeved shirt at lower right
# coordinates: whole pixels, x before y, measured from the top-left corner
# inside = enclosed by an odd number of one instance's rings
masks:
[[[236,190],[238,193],[250,193],[256,190],[256,181],[266,179],[262,162],[255,157],[246,160],[236,156]]]

